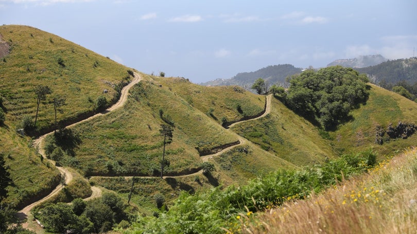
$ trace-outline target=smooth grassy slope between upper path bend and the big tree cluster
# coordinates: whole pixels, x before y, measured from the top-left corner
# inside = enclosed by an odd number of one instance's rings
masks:
[[[265,118],[238,124],[232,130],[299,166],[334,157],[332,147],[319,135],[318,128],[276,99]]]

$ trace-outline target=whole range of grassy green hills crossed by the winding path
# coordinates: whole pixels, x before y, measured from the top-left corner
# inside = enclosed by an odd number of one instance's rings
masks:
[[[58,120],[66,125],[97,112],[100,96],[106,97],[108,105],[115,102],[118,84],[126,84],[131,76],[129,68],[38,29],[1,26],[0,34],[10,45],[0,60],[0,95],[7,110],[5,124],[0,126],[0,152],[12,179],[5,202],[22,207],[60,181],[59,171],[42,160],[31,139],[16,133],[23,119],[34,119],[33,87],[48,85],[53,94],[47,100],[54,94],[66,97],[67,105],[58,113]],[[279,169],[327,163],[342,154],[370,149],[384,159],[417,142],[417,134],[402,139],[386,133],[400,121],[417,124],[417,103],[374,85],[370,85],[366,104],[352,110],[352,118],[332,131],[310,123],[279,99],[272,99],[271,111],[263,118],[228,128],[264,113],[266,97],[238,86],[206,87],[181,78],[141,76],[143,80],[130,90],[123,108],[59,131],[57,136],[64,139],[61,148],[47,137],[49,156],[74,169],[77,180],[68,189],[79,197],[91,193],[81,175],[91,185],[116,191],[125,202],[131,176],[141,176],[134,181],[132,206],[127,209],[152,216],[161,212],[154,201],[161,194],[169,205],[181,198],[181,191],[199,193],[246,184],[248,179]],[[103,93],[104,89],[108,92]],[[53,106],[41,104],[38,119],[33,134],[52,130]],[[156,177],[163,148],[161,124],[173,127],[172,143],[166,147],[168,176],[163,180]],[[201,173],[203,162],[212,163],[215,170]],[[71,199],[65,192],[55,198]]]

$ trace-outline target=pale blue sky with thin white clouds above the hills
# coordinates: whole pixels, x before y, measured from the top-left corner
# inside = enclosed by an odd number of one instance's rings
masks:
[[[0,24],[54,33],[145,73],[194,83],[277,64],[413,56],[417,1],[0,0]]]

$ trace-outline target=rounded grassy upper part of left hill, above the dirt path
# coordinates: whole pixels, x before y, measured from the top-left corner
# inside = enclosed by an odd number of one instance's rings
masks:
[[[100,95],[113,101],[114,85],[130,79],[127,67],[54,34],[14,25],[0,26],[0,34],[10,45],[10,53],[0,61],[0,95],[9,121],[17,123],[24,115],[34,119],[37,85],[53,91],[44,103],[53,95],[66,98],[58,120],[71,122],[94,111]],[[108,93],[103,93],[105,89]],[[54,108],[41,104],[38,128],[49,129],[53,121]]]

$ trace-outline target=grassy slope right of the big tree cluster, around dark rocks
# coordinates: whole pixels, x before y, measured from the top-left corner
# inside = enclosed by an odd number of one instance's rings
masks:
[[[376,144],[377,127],[387,130],[396,127],[398,122],[417,124],[417,103],[386,89],[371,85],[366,105],[352,111],[353,120],[339,126],[332,132],[332,144],[340,153],[358,152],[373,148],[379,156],[394,150],[415,146],[417,134],[407,139],[392,139],[384,134],[384,143]]]

